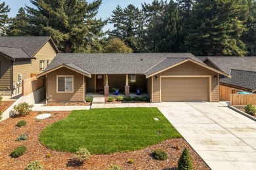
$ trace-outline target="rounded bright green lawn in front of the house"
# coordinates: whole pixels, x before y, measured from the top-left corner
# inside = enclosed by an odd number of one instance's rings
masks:
[[[180,137],[156,108],[120,108],[74,110],[43,129],[39,140],[54,150],[75,152],[85,147],[92,154],[110,154]]]

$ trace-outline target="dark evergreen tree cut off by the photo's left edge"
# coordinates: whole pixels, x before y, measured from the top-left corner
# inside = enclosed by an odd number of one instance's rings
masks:
[[[5,6],[5,2],[0,3],[0,35],[6,34],[7,24],[9,24],[8,12],[10,12],[9,5]]]

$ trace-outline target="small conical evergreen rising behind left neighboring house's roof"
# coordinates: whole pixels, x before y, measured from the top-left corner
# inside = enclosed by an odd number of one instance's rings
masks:
[[[12,18],[7,35],[19,36],[28,35],[28,18],[26,18],[26,12],[23,8],[18,10],[16,17]]]

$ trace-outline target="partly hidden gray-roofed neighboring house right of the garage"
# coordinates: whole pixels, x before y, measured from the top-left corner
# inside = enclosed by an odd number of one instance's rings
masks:
[[[230,94],[239,91],[256,93],[256,57],[200,57],[202,61],[231,75],[220,76],[221,99],[230,100]],[[222,93],[223,92],[223,93]]]

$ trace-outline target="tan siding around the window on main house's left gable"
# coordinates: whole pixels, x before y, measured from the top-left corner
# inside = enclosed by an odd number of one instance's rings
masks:
[[[74,93],[56,93],[57,75],[74,75]],[[83,101],[83,75],[64,67],[47,74],[47,95],[52,101]]]

